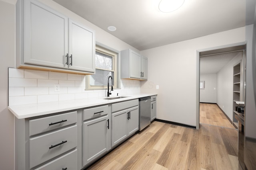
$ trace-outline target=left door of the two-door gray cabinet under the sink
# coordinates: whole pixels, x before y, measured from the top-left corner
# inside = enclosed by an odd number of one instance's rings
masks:
[[[128,111],[122,110],[112,113],[111,146],[118,144],[127,137]]]

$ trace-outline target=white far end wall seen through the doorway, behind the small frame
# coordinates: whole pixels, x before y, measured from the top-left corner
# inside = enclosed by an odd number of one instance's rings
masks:
[[[217,103],[217,74],[200,74],[204,89],[200,89],[200,102]]]

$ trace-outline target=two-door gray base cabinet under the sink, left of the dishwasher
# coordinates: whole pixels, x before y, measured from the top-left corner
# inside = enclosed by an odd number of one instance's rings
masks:
[[[111,146],[114,147],[115,145],[138,131],[138,100],[131,100],[112,104],[111,109]]]

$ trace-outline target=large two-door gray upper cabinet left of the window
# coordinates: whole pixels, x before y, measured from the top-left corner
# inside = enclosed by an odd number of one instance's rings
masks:
[[[94,31],[36,0],[18,0],[16,18],[17,67],[95,72]]]

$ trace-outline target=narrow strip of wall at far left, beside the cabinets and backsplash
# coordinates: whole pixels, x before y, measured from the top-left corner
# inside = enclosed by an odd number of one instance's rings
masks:
[[[14,169],[14,115],[8,110],[8,67],[14,66],[15,6],[0,0],[0,169]]]

